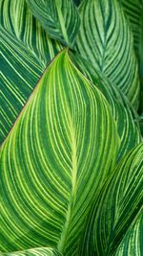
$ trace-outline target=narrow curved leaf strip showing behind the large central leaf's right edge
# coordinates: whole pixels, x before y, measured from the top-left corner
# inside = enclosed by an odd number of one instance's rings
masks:
[[[139,122],[137,120],[138,116],[119,88],[105,78],[100,71],[94,69],[91,63],[75,53],[71,54],[71,56],[78,69],[92,81],[92,84],[102,91],[111,105],[112,116],[121,140],[117,157],[119,160],[142,141]]]

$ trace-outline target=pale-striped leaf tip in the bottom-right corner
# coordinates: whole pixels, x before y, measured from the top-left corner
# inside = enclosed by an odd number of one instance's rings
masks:
[[[143,214],[141,213],[127,231],[115,256],[141,256],[143,253]]]

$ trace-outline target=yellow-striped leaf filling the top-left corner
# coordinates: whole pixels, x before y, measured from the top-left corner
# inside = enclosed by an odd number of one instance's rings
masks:
[[[23,43],[42,67],[61,49],[61,45],[51,40],[40,23],[33,17],[26,0],[1,0],[1,27]]]

